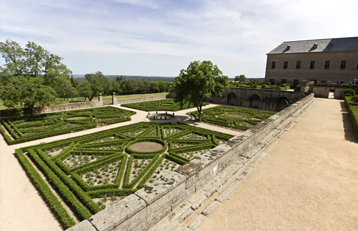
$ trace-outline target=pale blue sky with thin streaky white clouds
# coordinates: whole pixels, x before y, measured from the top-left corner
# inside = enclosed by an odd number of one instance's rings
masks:
[[[358,36],[357,12],[357,0],[1,0],[0,41],[33,41],[73,74],[174,77],[211,60],[263,78],[284,41]]]

